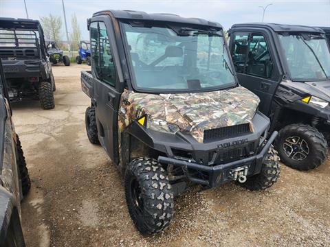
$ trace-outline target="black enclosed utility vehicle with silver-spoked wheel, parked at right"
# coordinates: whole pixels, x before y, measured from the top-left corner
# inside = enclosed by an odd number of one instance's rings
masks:
[[[230,29],[239,83],[261,99],[281,161],[300,170],[325,161],[330,141],[330,52],[317,27],[248,23]],[[326,139],[325,139],[325,137]]]

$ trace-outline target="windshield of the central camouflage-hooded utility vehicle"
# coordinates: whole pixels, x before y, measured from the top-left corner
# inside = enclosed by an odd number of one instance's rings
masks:
[[[221,32],[122,25],[137,89],[211,91],[236,83]]]

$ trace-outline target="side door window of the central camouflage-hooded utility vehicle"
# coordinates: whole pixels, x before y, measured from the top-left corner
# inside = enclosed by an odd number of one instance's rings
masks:
[[[91,59],[96,76],[102,82],[115,86],[115,64],[107,28],[102,22],[93,22],[89,30],[91,32]]]

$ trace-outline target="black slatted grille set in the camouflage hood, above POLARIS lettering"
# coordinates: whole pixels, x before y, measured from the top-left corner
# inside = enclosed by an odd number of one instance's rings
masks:
[[[204,130],[203,142],[224,139],[227,137],[236,137],[239,134],[250,132],[249,124],[239,124],[235,126],[221,127],[212,130]]]

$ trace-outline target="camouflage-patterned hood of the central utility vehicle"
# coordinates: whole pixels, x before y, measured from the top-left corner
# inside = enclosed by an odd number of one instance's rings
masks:
[[[120,131],[147,115],[147,128],[190,132],[203,142],[203,131],[250,124],[259,97],[242,86],[206,93],[146,94],[124,91],[120,102]]]

